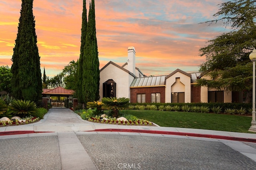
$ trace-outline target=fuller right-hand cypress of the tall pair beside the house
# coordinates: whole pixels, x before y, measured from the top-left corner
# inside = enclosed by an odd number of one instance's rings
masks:
[[[98,59],[98,46],[96,38],[94,0],[92,0],[92,4],[90,4],[88,14],[84,59],[82,88],[84,89],[84,99],[86,103],[99,99],[100,64]]]

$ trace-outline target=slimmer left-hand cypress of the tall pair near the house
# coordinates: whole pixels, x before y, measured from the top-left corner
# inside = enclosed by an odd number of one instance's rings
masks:
[[[77,69],[77,90],[76,94],[78,97],[78,101],[80,103],[85,103],[84,93],[82,88],[82,80],[83,80],[83,64],[84,64],[84,45],[86,41],[86,30],[87,30],[87,10],[86,10],[86,0],[83,0],[83,12],[82,12],[82,28],[81,28],[81,46],[80,46],[80,57],[78,60],[78,69]]]

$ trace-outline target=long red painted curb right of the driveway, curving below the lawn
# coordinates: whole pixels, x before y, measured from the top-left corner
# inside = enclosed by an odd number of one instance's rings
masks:
[[[142,129],[95,129],[98,132],[134,132],[134,133],[152,133],[152,134],[162,134],[162,135],[179,135],[179,136],[189,136],[189,137],[205,137],[212,139],[226,139],[231,141],[241,141],[241,142],[253,142],[256,143],[256,139],[242,138],[242,137],[230,137],[230,136],[220,136],[220,135],[205,135],[199,133],[185,133],[185,132],[170,132],[170,131],[154,131],[154,130],[142,130]]]

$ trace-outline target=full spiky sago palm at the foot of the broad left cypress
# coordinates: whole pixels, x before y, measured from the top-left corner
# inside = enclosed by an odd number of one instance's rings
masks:
[[[35,102],[30,100],[12,100],[12,103],[9,107],[10,112],[13,115],[30,115],[36,112]]]

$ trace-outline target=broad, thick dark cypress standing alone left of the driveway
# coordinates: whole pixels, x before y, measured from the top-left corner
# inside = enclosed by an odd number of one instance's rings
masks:
[[[17,38],[13,49],[12,95],[37,101],[42,98],[42,74],[38,53],[33,0],[22,0]]]

